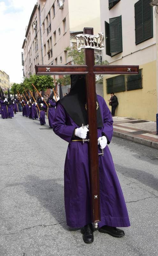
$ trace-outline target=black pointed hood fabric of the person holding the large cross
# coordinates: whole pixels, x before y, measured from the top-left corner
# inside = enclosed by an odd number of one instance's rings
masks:
[[[96,95],[97,100],[97,95]],[[85,75],[71,75],[71,89],[68,95],[60,100],[68,115],[78,125],[82,126],[88,124],[87,110],[86,110],[86,77]],[[97,100],[98,103],[98,100]],[[97,128],[103,127],[103,120],[99,108],[97,108]]]

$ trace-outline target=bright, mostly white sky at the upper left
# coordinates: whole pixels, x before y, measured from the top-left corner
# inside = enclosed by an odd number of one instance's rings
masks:
[[[0,0],[0,70],[5,71],[10,82],[23,80],[21,52],[36,0]]]

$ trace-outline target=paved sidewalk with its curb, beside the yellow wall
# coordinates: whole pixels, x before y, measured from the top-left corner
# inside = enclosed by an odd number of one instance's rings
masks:
[[[113,135],[158,149],[156,122],[127,117],[113,117]]]

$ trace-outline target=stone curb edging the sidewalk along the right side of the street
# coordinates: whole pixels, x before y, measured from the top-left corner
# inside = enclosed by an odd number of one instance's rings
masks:
[[[158,142],[155,142],[155,141],[146,140],[146,139],[139,138],[139,137],[133,137],[132,135],[127,134],[127,133],[123,133],[123,132],[113,131],[113,135],[116,136],[116,137],[125,139],[125,140],[130,140],[130,141],[139,143],[141,145],[145,145],[145,146],[148,146],[148,147],[151,147],[151,148],[158,149]]]

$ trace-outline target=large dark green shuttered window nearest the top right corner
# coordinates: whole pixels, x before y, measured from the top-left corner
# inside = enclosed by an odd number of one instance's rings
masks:
[[[150,0],[139,0],[134,4],[135,44],[153,37],[153,7]]]

